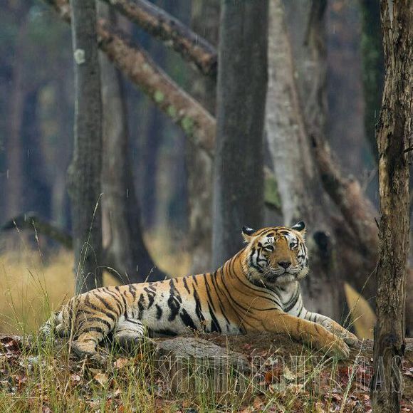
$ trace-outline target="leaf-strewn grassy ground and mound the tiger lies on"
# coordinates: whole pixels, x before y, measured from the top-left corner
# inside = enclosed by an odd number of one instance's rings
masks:
[[[185,358],[179,345],[191,340],[199,354]],[[171,343],[178,343],[172,358],[154,350]],[[203,358],[205,345],[219,347]],[[0,412],[370,412],[371,340],[360,340],[347,360],[269,333],[158,339],[133,353],[105,349],[100,365],[69,355],[67,343],[1,335]],[[413,339],[402,367],[402,411],[412,412]]]

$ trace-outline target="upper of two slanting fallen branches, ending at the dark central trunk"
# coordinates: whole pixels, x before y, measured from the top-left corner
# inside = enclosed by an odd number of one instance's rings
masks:
[[[165,46],[177,51],[184,60],[194,63],[204,75],[216,78],[217,54],[214,46],[198,36],[178,19],[146,0],[103,0],[137,23]]]

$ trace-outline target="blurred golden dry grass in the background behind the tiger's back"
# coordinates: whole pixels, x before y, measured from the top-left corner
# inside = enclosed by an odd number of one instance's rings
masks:
[[[172,276],[182,276],[190,266],[189,253],[164,240],[164,234],[146,237],[157,265]],[[117,284],[103,274],[105,286]],[[0,255],[0,333],[31,333],[52,309],[73,295],[73,253],[60,250],[46,260],[41,252],[27,249]]]

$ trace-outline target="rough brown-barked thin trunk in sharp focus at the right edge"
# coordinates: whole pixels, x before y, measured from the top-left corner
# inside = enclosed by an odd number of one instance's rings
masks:
[[[374,412],[399,412],[413,143],[413,2],[382,0],[381,18],[386,75],[377,125],[382,216],[371,398]]]

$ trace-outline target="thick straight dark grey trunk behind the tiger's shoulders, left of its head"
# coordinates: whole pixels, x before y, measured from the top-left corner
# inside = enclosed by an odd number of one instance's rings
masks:
[[[263,219],[268,1],[222,3],[214,163],[214,267]],[[257,24],[259,22],[259,24]]]

